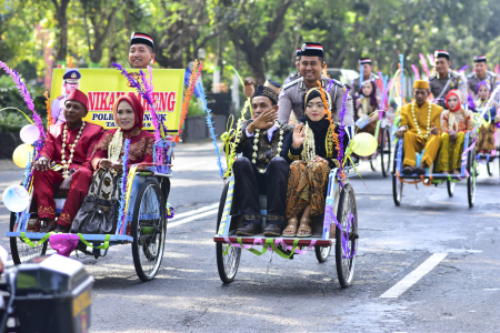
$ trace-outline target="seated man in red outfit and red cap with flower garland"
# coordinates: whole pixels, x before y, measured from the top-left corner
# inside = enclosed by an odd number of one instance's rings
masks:
[[[94,144],[104,131],[84,122],[89,100],[80,90],[73,90],[64,103],[66,122],[51,125],[40,159],[34,163],[33,199],[38,219],[44,222],[41,232],[69,232],[71,223],[89,190],[92,179],[90,159]],[[54,193],[68,195],[56,222]]]

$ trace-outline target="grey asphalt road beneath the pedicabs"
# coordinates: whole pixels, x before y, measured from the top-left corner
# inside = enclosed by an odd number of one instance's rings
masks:
[[[180,144],[174,165],[177,214],[219,202],[222,181],[210,144]],[[500,332],[497,161],[494,169],[490,178],[480,167],[472,209],[464,183],[453,198],[446,186],[406,185],[397,208],[390,178],[361,165],[367,188],[351,181],[360,249],[349,289],[338,283],[334,256],[320,264],[313,252],[283,260],[244,251],[234,282],[223,285],[212,241],[216,210],[174,218],[152,282],[136,276],[130,245],[80,259],[96,278],[91,332]],[[7,162],[0,170],[0,191],[21,179],[22,170]],[[0,205],[0,235],[8,218]],[[9,250],[7,238],[0,243]],[[381,297],[402,280],[410,281],[404,292]]]

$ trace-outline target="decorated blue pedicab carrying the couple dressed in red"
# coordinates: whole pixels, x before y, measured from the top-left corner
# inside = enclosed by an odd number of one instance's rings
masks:
[[[39,158],[39,152],[43,147],[46,134],[41,124],[41,119],[34,111],[33,103],[26,85],[16,71],[9,69],[4,65],[4,63],[1,64],[17,83],[29,109],[33,112],[34,119],[34,124],[28,125],[31,127],[31,129],[26,130],[28,134],[24,134],[26,138],[29,138],[26,142],[33,142],[32,147],[31,144],[24,144],[14,152],[14,162],[17,159],[26,161],[26,173],[22,184],[10,186],[3,193],[3,202],[6,206],[12,211],[10,219],[10,231],[7,235],[10,238],[12,260],[16,264],[19,264],[33,259],[34,256],[44,254],[48,250],[48,241],[53,235],[62,234],[56,234],[54,232],[40,232],[39,223],[30,223],[31,219],[34,221],[38,220],[37,208],[34,204],[31,204],[33,198],[33,162]],[[152,280],[160,268],[163,256],[167,221],[173,216],[173,209],[170,208],[170,204],[168,203],[170,178],[172,176],[170,163],[173,149],[176,143],[179,141],[180,127],[188,110],[189,100],[192,93],[192,84],[190,89],[186,91],[182,108],[181,105],[174,105],[174,103],[172,103],[170,110],[167,110],[168,108],[166,109],[164,103],[163,107],[161,107],[162,102],[159,101],[159,98],[161,98],[164,93],[153,92],[153,71],[151,68],[148,68],[149,78],[147,78],[147,73],[142,72],[142,70],[128,72],[117,63],[113,63],[113,65],[117,70],[119,70],[118,77],[110,79],[110,75],[106,75],[103,81],[107,84],[110,84],[110,82],[113,81],[120,81],[119,83],[114,82],[113,87],[117,87],[117,91],[121,92],[121,94],[126,93],[123,91],[133,93],[136,90],[137,95],[142,98],[143,105],[146,105],[147,110],[150,111],[148,112],[149,114],[144,114],[144,119],[151,120],[150,130],[154,131],[156,142],[153,145],[153,163],[128,165],[130,140],[127,139],[124,141],[124,154],[121,159],[123,173],[117,182],[119,189],[114,188],[114,190],[118,190],[120,194],[118,196],[118,201],[111,201],[111,204],[119,205],[118,219],[114,221],[114,225],[112,228],[113,231],[108,234],[78,233],[77,241],[79,242],[79,246],[77,249],[86,254],[93,255],[97,259],[99,256],[106,256],[109,248],[112,245],[131,244],[136,272],[139,279],[146,282]],[[200,70],[201,65],[193,72],[198,73]],[[57,74],[61,73],[60,71],[57,71],[58,70],[54,70],[54,78]],[[62,70],[62,72],[64,70]],[[92,70],[82,71],[87,71],[86,74],[99,74],[99,72],[91,72]],[[107,71],[107,73],[117,72],[113,69],[100,71]],[[170,75],[170,93],[173,92],[182,94],[184,77],[183,70],[154,70],[154,73],[156,78],[161,77],[162,74]],[[154,80],[157,85],[160,85],[158,84],[158,79]],[[164,89],[164,87],[161,88]],[[108,90],[110,88],[108,88]],[[117,95],[120,94],[118,92]],[[113,92],[111,92],[111,95],[112,94]],[[169,91],[167,91],[167,95],[168,94]],[[108,97],[108,94],[106,97]],[[48,101],[47,104],[49,108],[50,102]],[[97,103],[97,105],[99,104],[101,105],[101,109],[96,107],[93,110],[109,111],[109,109],[102,109],[102,105],[109,105],[111,104],[111,101],[109,103]],[[106,112],[89,113],[90,114],[88,117],[91,119],[87,121],[99,119],[101,118],[99,114],[103,114]],[[106,115],[102,118],[107,119]],[[109,125],[104,125],[104,128],[106,127]],[[32,128],[34,128],[36,131],[33,131]],[[27,154],[29,157],[27,157]],[[19,161],[17,163],[19,163]],[[54,196],[54,201],[56,213],[57,216],[59,216],[66,198]],[[106,211],[106,208],[96,205],[96,210]],[[69,235],[73,235],[74,240],[74,234]],[[72,249],[74,249],[76,245],[77,244],[74,244]],[[89,248],[90,251],[88,251]],[[66,255],[69,255],[71,251],[72,250],[70,250],[69,253],[67,251]]]

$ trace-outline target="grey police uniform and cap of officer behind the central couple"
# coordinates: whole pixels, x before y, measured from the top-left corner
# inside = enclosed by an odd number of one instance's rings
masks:
[[[301,56],[320,57],[323,58],[323,47],[320,43],[304,42],[302,44]],[[347,91],[343,83],[321,75],[321,87],[330,93],[332,100],[333,121],[341,122],[340,111],[342,110],[343,95]],[[311,87],[313,88],[313,87]],[[290,113],[293,110],[296,119],[300,119],[303,114],[303,94],[309,90],[303,82],[303,78],[299,78],[283,85],[278,102],[278,120],[281,123],[288,123]],[[352,97],[348,94],[346,100],[346,115],[343,119],[344,125],[354,124],[354,113],[352,111]]]

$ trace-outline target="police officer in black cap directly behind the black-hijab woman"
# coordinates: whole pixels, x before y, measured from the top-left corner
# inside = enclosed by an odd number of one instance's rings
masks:
[[[340,111],[342,110],[342,101],[347,91],[343,83],[329,79],[321,74],[323,68],[327,67],[324,60],[323,47],[320,43],[304,42],[302,44],[299,71],[301,77],[288,84],[283,85],[278,102],[278,120],[281,123],[288,123],[290,114],[293,110],[296,119],[300,119],[303,114],[303,94],[311,88],[321,87],[328,91],[332,100],[333,121],[340,122]],[[353,125],[354,118],[352,112],[352,97],[348,94],[346,100],[344,125]]]

